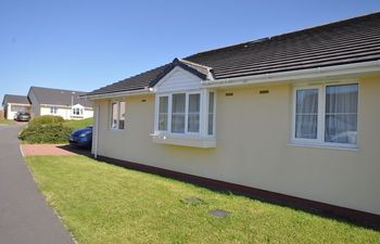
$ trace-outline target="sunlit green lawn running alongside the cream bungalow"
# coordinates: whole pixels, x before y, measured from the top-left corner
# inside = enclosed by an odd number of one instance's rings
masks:
[[[380,232],[85,156],[26,157],[79,244],[380,243]],[[200,205],[181,200],[197,196]],[[220,208],[228,218],[207,213]]]

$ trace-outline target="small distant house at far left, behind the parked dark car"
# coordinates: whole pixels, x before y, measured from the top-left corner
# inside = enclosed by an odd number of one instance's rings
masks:
[[[30,113],[30,102],[25,95],[5,94],[2,100],[4,118],[13,119],[17,112]]]

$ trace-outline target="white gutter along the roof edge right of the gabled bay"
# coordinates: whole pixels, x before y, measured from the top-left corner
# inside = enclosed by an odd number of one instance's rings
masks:
[[[344,64],[335,66],[326,66],[308,69],[299,69],[292,72],[280,72],[271,74],[262,74],[253,76],[243,76],[236,78],[225,78],[215,80],[204,80],[202,86],[207,88],[214,87],[230,87],[246,84],[264,84],[264,82],[277,82],[286,80],[297,80],[297,79],[309,79],[318,77],[338,76],[338,75],[353,75],[370,72],[380,72],[380,60],[355,63],[355,64]]]

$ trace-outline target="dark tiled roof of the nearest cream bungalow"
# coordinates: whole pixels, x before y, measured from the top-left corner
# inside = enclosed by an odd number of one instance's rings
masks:
[[[379,59],[380,12],[197,53],[179,60],[180,62],[173,62],[100,88],[87,95],[153,87],[163,74],[179,64],[198,72],[201,69],[193,65],[207,67],[211,73],[208,78],[224,79]]]

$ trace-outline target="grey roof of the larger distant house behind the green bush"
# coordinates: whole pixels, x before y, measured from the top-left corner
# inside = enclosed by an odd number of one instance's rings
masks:
[[[43,87],[30,87],[29,92],[30,91],[35,93],[36,99],[40,104],[71,106],[73,100],[73,105],[79,103],[85,107],[92,107],[92,103],[90,101],[79,98],[80,95],[86,94],[85,91],[73,91]]]

